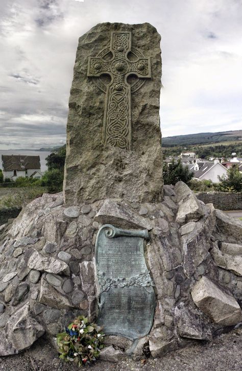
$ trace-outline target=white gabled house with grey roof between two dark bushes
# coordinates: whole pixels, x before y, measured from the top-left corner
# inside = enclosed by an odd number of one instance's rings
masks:
[[[219,160],[213,162],[196,162],[191,168],[194,171],[194,178],[198,180],[211,180],[213,183],[219,183],[219,176],[227,175],[228,170]]]

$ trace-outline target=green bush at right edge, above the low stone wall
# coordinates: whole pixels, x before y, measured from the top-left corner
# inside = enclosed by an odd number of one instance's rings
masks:
[[[217,188],[222,192],[241,192],[242,191],[242,174],[238,171],[236,165],[228,170],[227,175],[219,177],[220,183]]]

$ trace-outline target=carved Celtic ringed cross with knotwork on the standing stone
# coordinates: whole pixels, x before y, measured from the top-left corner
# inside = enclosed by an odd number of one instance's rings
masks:
[[[105,59],[112,54],[110,60]],[[132,53],[131,61],[128,54]],[[111,81],[105,85],[100,76],[109,75]],[[135,75],[139,79],[129,85],[127,78]],[[137,91],[151,78],[150,57],[144,58],[137,48],[131,46],[131,32],[111,32],[110,47],[103,49],[97,57],[89,57],[88,77],[95,77],[98,87],[106,93],[103,142],[131,150],[131,93]]]

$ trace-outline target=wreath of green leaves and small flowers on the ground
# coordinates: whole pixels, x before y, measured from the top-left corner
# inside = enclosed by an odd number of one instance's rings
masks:
[[[101,330],[98,325],[89,323],[88,318],[77,317],[65,332],[56,336],[59,357],[78,366],[95,361],[103,348],[104,334]]]

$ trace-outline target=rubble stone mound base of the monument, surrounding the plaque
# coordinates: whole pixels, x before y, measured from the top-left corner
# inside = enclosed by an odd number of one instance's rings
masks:
[[[155,284],[152,329],[134,342],[106,336],[101,358],[153,357],[206,340],[242,321],[242,221],[204,205],[182,182],[161,203],[107,199],[65,208],[43,194],[0,227],[0,355],[50,340],[77,315],[96,318],[94,245],[104,224],[147,229]],[[113,348],[115,345],[115,348]]]

